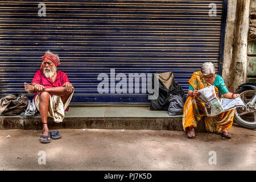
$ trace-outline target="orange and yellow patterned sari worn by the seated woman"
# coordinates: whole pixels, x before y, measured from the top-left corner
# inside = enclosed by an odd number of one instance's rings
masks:
[[[200,90],[210,85],[202,77],[201,72],[193,73],[192,77],[188,82],[193,86],[195,90]],[[218,96],[218,89],[216,86],[215,93]],[[224,111],[221,114],[212,117],[207,117],[205,113],[204,102],[200,101],[196,97],[187,96],[187,101],[184,104],[182,117],[184,131],[187,132],[187,127],[189,126],[197,127],[197,122],[199,122],[202,117],[204,117],[205,129],[208,132],[221,133],[222,129],[231,129],[234,118],[234,109]]]

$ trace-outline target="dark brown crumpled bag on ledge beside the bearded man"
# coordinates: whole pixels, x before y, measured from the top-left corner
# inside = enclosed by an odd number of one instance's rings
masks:
[[[28,98],[23,94],[10,94],[0,99],[0,114],[18,115],[24,111]]]

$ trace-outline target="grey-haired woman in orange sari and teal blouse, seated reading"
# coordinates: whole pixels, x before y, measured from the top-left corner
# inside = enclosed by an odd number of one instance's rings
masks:
[[[196,122],[199,122],[202,117],[204,117],[205,129],[208,132],[221,133],[222,137],[231,138],[228,130],[231,129],[233,123],[234,109],[207,117],[205,109],[208,109],[209,106],[205,106],[204,102],[199,99],[200,93],[198,90],[210,85],[214,86],[217,96],[218,92],[221,92],[225,98],[234,99],[240,97],[240,94],[230,93],[225,86],[224,80],[215,73],[214,65],[207,62],[202,65],[201,72],[193,73],[188,81],[190,85],[182,118],[183,129],[187,133],[188,138],[195,138]]]

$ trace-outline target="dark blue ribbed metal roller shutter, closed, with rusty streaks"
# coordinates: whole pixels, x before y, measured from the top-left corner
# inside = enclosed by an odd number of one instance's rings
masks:
[[[0,2],[1,96],[24,93],[48,49],[75,87],[72,103],[149,103],[142,92],[98,93],[110,68],[127,77],[172,71],[185,91],[205,60],[219,68],[223,1],[43,1],[46,16],[42,1]]]

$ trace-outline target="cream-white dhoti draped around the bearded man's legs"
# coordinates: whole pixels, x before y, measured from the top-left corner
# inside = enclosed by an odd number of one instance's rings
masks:
[[[65,117],[65,110],[67,109],[74,93],[75,89],[73,88],[72,94],[69,96],[67,102],[63,104],[60,96],[53,95],[52,97],[49,95],[49,108],[48,108],[48,117],[51,117],[54,119],[55,122],[59,123],[62,122]],[[35,97],[35,106],[36,109],[39,111],[39,102],[40,102],[40,94],[39,93]]]

